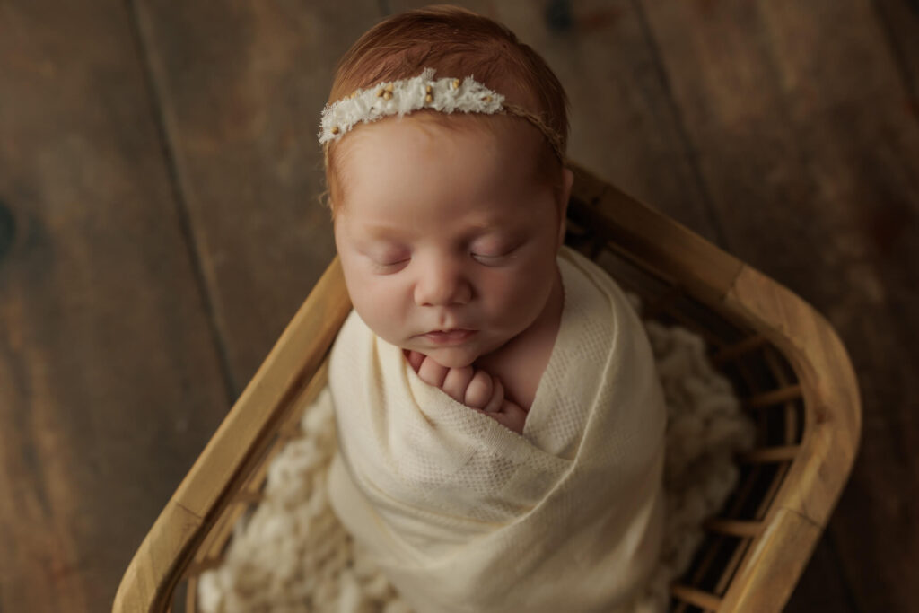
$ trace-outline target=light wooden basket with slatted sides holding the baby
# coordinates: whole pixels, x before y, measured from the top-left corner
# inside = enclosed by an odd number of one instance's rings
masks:
[[[566,242],[639,294],[643,318],[706,339],[757,424],[671,609],[781,610],[855,460],[861,405],[845,347],[789,289],[581,168],[568,218]],[[143,540],[115,611],[197,610],[197,577],[220,564],[270,460],[297,436],[350,308],[335,258]]]

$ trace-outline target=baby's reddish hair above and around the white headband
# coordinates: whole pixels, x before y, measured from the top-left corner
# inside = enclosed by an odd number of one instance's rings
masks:
[[[476,81],[526,108],[559,136],[562,153],[568,142],[568,97],[539,53],[517,40],[503,24],[459,6],[427,6],[388,17],[365,32],[346,51],[335,70],[329,104],[357,89],[381,82],[408,79],[425,68],[438,77],[473,76]],[[451,128],[449,115],[419,111]],[[482,115],[496,129],[505,116]],[[498,119],[495,121],[494,119]],[[325,176],[333,215],[340,189],[335,165],[336,142],[327,142]],[[562,161],[545,142],[539,153],[539,176],[561,187]]]

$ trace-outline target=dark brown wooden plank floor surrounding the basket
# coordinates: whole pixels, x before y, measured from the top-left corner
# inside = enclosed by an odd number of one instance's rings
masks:
[[[0,3],[0,611],[110,607],[334,254],[335,60],[420,4]],[[915,610],[919,3],[462,4],[559,74],[574,159],[838,329],[863,442],[788,610]]]

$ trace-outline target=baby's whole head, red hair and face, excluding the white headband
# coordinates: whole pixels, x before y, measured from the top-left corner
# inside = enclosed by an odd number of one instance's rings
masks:
[[[369,88],[392,96],[379,85],[427,68],[449,79],[432,95],[469,91],[472,76],[505,96],[503,112],[422,108],[344,134],[333,127],[326,180],[357,313],[391,344],[462,367],[528,329],[559,295],[567,99],[508,29],[444,6],[364,34],[339,63],[329,102]]]

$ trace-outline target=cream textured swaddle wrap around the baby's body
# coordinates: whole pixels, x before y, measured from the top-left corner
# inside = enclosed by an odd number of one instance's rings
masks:
[[[415,374],[352,312],[332,351],[329,498],[426,611],[628,611],[664,526],[664,395],[607,274],[558,257],[562,322],[523,436]]]

